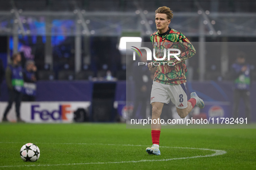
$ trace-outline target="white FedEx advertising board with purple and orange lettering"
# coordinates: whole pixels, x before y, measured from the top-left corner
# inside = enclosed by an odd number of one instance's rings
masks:
[[[74,112],[78,108],[87,109],[91,102],[22,102],[20,107],[20,117],[29,123],[72,123]],[[7,102],[0,102],[0,121]],[[16,121],[15,104],[7,115],[11,122]]]

